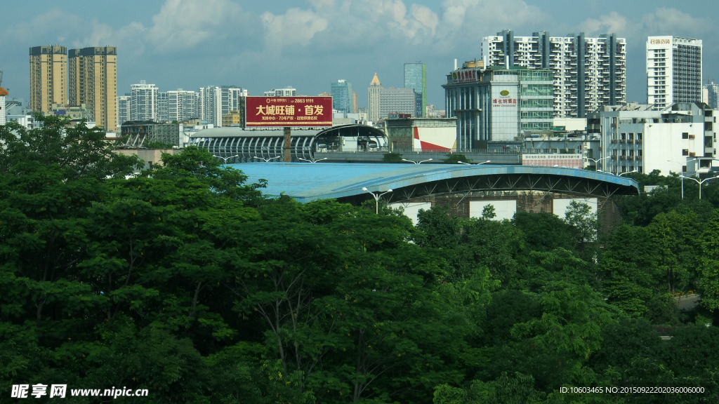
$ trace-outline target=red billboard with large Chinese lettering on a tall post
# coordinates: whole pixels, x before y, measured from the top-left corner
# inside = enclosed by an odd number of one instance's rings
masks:
[[[331,127],[332,97],[247,97],[248,127]]]

